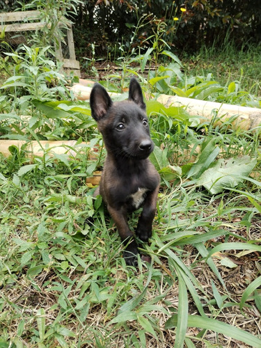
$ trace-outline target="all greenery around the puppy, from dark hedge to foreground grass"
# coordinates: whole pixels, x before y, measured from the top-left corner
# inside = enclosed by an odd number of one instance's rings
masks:
[[[0,35],[0,347],[261,347],[260,126],[155,99],[260,109],[259,2],[0,0],[46,24]],[[105,150],[54,54],[70,22],[83,76],[148,96],[161,190],[137,269],[86,180]]]

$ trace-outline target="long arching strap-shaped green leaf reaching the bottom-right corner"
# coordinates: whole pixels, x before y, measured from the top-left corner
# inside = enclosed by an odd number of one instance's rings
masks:
[[[177,326],[176,314],[168,319],[165,324],[166,329],[172,329],[175,326]],[[212,330],[217,333],[222,333],[223,335],[226,335],[228,337],[235,338],[235,340],[242,341],[251,347],[261,347],[260,338],[257,338],[254,335],[251,335],[251,333],[248,333],[230,324],[219,322],[219,320],[216,319],[200,317],[198,315],[189,315],[188,326]]]

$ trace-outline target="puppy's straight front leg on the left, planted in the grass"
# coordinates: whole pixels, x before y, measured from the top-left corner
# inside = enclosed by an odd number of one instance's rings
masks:
[[[125,258],[125,262],[129,266],[136,266],[138,248],[135,240],[132,239],[133,233],[131,230],[129,230],[129,226],[127,224],[127,212],[125,212],[124,209],[114,209],[110,205],[107,207],[113,221],[116,224],[120,238],[123,244],[126,246],[125,251],[123,252],[123,258]]]

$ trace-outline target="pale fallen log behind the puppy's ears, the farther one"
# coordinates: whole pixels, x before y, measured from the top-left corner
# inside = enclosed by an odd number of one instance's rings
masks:
[[[90,91],[92,87],[83,86],[81,82],[81,84],[74,84],[70,89],[74,92],[77,99],[90,99]],[[111,97],[120,95],[120,93],[109,94]],[[182,106],[187,110],[189,115],[198,116],[201,123],[207,120],[210,122],[214,121],[214,125],[221,125],[222,123],[227,122],[230,118],[234,118],[232,120],[232,127],[235,129],[256,129],[261,125],[261,109],[257,108],[164,94],[159,95],[157,101],[166,107]]]

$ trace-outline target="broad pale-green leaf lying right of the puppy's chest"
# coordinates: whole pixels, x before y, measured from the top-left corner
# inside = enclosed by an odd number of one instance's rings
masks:
[[[249,156],[219,159],[199,177],[197,184],[204,186],[211,194],[236,187],[242,182],[242,176],[251,173],[256,163],[257,160]]]

